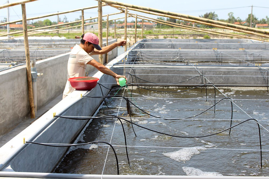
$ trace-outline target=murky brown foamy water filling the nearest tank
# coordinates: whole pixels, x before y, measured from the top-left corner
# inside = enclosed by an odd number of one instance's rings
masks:
[[[160,91],[182,91],[183,87],[146,87]],[[265,88],[222,87],[216,90],[216,98],[233,99],[232,126],[243,120],[255,118],[269,129],[268,100]],[[119,89],[111,90],[115,95]],[[130,97],[129,90],[122,88],[117,95]],[[197,115],[214,105],[214,89],[193,89],[186,92],[155,92],[134,87],[132,102],[151,115],[161,118],[188,118]],[[90,98],[88,98],[90,100]],[[218,101],[218,100],[216,100]],[[126,107],[121,98],[106,99],[110,108]],[[131,105],[131,107],[134,107]],[[103,103],[100,109],[106,108]],[[241,108],[241,109],[240,109]],[[244,111],[243,111],[244,110]],[[250,116],[248,116],[248,115]],[[98,113],[97,113],[98,116]],[[130,166],[126,157],[122,126],[113,119],[94,119],[79,135],[75,143],[91,141],[110,142],[117,153],[121,175],[226,175],[226,176],[268,176],[269,151],[262,151],[260,166],[259,130],[255,121],[244,122],[229,131],[210,135],[230,127],[231,102],[220,101],[214,108],[190,119],[164,120],[160,118],[140,118],[134,122],[158,132],[183,137],[176,138],[152,132],[124,122]],[[116,123],[115,123],[116,121]],[[268,150],[269,132],[262,126],[262,149]],[[113,135],[112,135],[113,134]],[[108,153],[108,156],[107,156]],[[107,159],[106,159],[107,156]],[[106,161],[106,163],[105,163]],[[75,174],[117,174],[114,153],[102,144],[71,147],[56,167],[55,173]]]

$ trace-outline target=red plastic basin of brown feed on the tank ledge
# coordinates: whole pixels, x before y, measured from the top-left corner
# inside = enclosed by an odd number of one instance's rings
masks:
[[[93,80],[75,80],[77,78],[88,78],[88,76],[85,77],[73,77],[69,78],[68,81],[70,81],[70,84],[73,88],[76,90],[91,90],[97,85],[97,81],[99,78],[95,78]]]

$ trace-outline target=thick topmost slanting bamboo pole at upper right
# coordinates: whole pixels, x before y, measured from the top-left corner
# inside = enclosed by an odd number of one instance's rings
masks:
[[[140,9],[140,10],[146,10],[146,11],[162,13],[162,14],[176,16],[176,17],[182,17],[182,18],[188,18],[188,19],[192,19],[192,20],[207,22],[207,23],[211,23],[211,24],[221,25],[223,27],[233,27],[233,28],[237,28],[237,29],[248,30],[248,31],[262,33],[262,34],[269,34],[269,32],[267,32],[266,30],[261,30],[261,29],[257,29],[257,28],[253,28],[253,27],[245,27],[242,25],[230,24],[227,22],[215,21],[215,20],[196,17],[196,16],[189,16],[189,15],[181,14],[181,13],[173,13],[173,12],[169,12],[169,11],[164,11],[164,10],[159,10],[159,9],[154,9],[154,8],[149,8],[149,7],[143,7],[143,6],[137,6],[137,5],[127,4],[127,3],[121,3],[121,2],[117,2],[117,1],[111,1],[111,0],[101,0],[101,1],[106,2],[108,4],[116,4],[116,5],[121,5],[121,6],[125,6],[125,7],[132,7],[132,8]]]

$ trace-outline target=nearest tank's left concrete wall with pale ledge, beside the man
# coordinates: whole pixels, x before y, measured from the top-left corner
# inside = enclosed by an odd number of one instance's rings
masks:
[[[116,60],[111,61],[107,67],[111,67]],[[120,71],[122,72],[122,70]],[[100,78],[99,82],[108,88],[116,84],[113,77],[104,75],[101,72],[97,72],[94,77]],[[104,95],[109,92],[105,88],[102,88],[102,90]],[[2,154],[0,155],[0,170],[3,171],[10,166],[16,172],[51,172],[65,154],[67,147],[55,148],[23,144],[22,138],[25,137],[25,141],[42,143],[71,143],[87,121],[54,118],[53,113],[69,116],[93,115],[103,99],[81,98],[81,95],[102,96],[102,93],[99,85],[90,92],[75,90],[56,104],[0,148],[0,153]],[[12,147],[10,148],[10,146]]]

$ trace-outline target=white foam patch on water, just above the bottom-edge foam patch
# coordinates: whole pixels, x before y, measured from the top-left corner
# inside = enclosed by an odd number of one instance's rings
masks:
[[[163,153],[163,155],[175,160],[175,161],[189,161],[192,157],[192,155],[198,155],[200,154],[199,150],[206,150],[204,147],[189,147],[189,148],[184,148],[180,149],[176,152],[168,152],[168,153]]]

